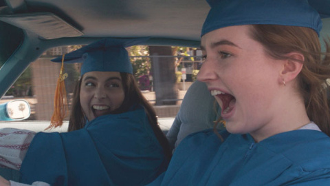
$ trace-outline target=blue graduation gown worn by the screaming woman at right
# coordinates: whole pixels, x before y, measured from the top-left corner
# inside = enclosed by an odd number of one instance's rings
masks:
[[[212,130],[188,136],[150,185],[330,185],[330,138],[315,130],[249,134]]]

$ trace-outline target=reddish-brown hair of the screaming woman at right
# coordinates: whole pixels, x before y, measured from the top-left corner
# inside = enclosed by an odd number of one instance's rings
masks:
[[[285,25],[252,25],[252,39],[265,48],[274,59],[287,59],[285,54],[299,52],[305,56],[298,74],[298,90],[305,101],[307,115],[330,136],[330,48],[321,52],[318,34],[310,28]],[[294,60],[294,59],[293,59]]]

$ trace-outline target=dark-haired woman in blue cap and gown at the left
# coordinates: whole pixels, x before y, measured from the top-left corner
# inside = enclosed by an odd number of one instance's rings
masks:
[[[33,137],[21,163],[21,183],[146,185],[164,172],[168,141],[134,81],[124,48],[137,41],[102,39],[65,55],[65,63],[83,63],[69,132]]]

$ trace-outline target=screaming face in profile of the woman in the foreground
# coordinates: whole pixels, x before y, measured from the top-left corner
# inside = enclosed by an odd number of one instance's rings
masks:
[[[221,105],[221,116],[231,133],[260,133],[276,126],[281,63],[270,58],[250,37],[250,26],[208,32],[201,38],[205,61],[197,79]]]

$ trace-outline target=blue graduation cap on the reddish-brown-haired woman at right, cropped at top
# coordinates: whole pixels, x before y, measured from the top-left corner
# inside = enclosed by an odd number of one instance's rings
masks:
[[[292,25],[320,34],[321,18],[330,17],[329,0],[207,0],[210,12],[201,36],[232,25]]]

